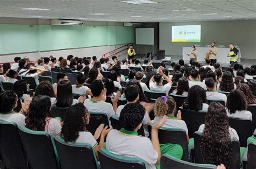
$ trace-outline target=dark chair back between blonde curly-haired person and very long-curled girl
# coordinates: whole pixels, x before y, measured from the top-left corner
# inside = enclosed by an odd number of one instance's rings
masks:
[[[198,131],[199,126],[205,123],[205,115],[206,111],[193,111],[188,109],[183,109],[183,107],[179,107],[181,110],[181,119],[185,121],[188,129],[188,136],[190,138],[193,137],[195,131]],[[196,119],[196,120],[195,120]]]

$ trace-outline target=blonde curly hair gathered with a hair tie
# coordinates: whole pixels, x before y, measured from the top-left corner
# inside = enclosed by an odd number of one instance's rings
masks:
[[[176,102],[171,96],[162,96],[157,98],[156,103],[154,104],[154,116],[164,116],[171,114],[176,108]]]

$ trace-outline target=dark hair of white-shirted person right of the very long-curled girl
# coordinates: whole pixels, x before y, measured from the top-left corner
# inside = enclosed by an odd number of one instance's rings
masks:
[[[234,114],[235,111],[241,111],[247,109],[246,96],[241,90],[231,90],[227,96],[227,110],[230,114]]]

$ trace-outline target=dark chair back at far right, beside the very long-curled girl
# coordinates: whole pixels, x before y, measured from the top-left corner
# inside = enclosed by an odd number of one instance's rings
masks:
[[[237,131],[242,147],[247,146],[247,138],[252,136],[252,121],[248,118],[228,117],[231,128]],[[242,127],[241,127],[242,126]]]

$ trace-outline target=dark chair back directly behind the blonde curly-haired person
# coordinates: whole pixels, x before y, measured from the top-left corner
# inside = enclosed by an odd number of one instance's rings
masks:
[[[148,125],[149,135],[151,138],[152,124]],[[182,160],[189,161],[189,153],[187,147],[187,135],[186,131],[179,128],[160,128],[158,130],[158,139],[160,144],[179,144],[183,149]]]

